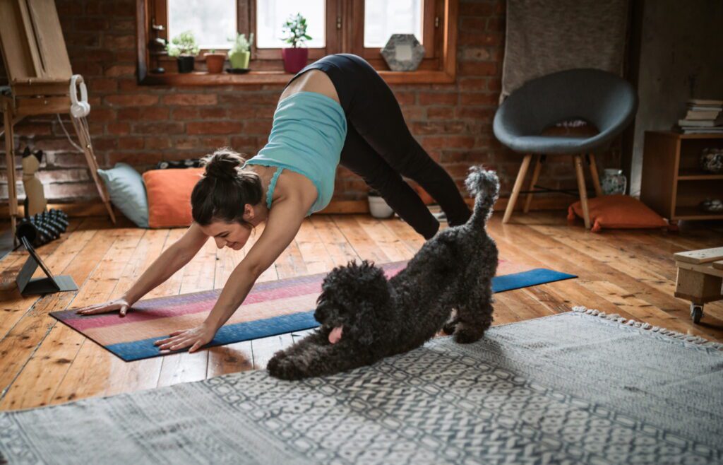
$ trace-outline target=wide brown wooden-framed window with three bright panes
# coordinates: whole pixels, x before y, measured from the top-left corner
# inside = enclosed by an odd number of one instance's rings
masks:
[[[142,84],[286,82],[282,25],[291,14],[307,18],[309,59],[335,53],[363,56],[388,82],[453,82],[458,0],[136,0],[139,81]],[[196,72],[176,74],[174,59],[158,49],[191,30],[201,48]],[[236,33],[254,33],[252,72],[208,74],[203,53],[228,50]],[[380,49],[393,33],[412,33],[425,54],[416,72],[391,72]],[[166,74],[148,73],[164,67]]]

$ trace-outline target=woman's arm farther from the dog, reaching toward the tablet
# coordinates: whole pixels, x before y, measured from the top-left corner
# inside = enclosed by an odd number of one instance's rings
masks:
[[[181,239],[168,247],[153,263],[143,272],[140,278],[128,289],[119,299],[103,302],[102,304],[91,305],[78,310],[82,315],[93,315],[94,313],[111,312],[120,310],[120,316],[124,317],[129,307],[145,296],[151,289],[161,285],[176,271],[184,267],[203,247],[208,236],[203,234],[196,223],[187,229]]]

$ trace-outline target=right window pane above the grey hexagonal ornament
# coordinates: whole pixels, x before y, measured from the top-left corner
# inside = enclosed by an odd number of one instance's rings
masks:
[[[364,47],[385,46],[392,34],[414,34],[422,43],[422,0],[364,1]]]

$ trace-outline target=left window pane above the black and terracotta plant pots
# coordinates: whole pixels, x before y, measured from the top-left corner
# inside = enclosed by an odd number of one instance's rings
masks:
[[[200,48],[231,48],[236,0],[168,0],[168,40],[187,30]]]

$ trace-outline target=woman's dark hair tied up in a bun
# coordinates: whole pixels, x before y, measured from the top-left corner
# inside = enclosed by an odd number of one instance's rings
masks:
[[[244,205],[256,205],[261,201],[263,190],[259,175],[241,169],[244,158],[230,148],[215,150],[202,158],[206,168],[203,177],[191,192],[191,215],[193,221],[208,226],[213,221],[241,224],[244,221]]]

